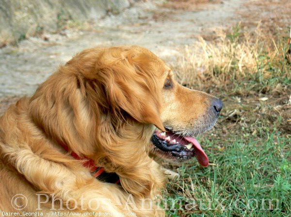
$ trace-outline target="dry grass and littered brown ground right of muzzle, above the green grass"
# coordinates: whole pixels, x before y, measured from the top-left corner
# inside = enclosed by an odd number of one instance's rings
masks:
[[[184,86],[223,99],[218,138],[221,133],[259,135],[258,126],[290,135],[291,65],[286,38],[266,37],[260,26],[255,32],[238,26],[230,34],[217,31],[217,36],[212,42],[199,38],[186,46],[174,71]]]

